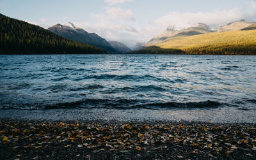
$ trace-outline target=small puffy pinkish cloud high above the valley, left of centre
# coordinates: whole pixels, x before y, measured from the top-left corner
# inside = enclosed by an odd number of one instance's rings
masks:
[[[115,19],[135,21],[135,17],[131,10],[123,10],[122,8],[106,8],[106,12]]]

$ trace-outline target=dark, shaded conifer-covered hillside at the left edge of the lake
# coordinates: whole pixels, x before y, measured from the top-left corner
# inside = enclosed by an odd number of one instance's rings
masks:
[[[100,48],[67,40],[38,25],[0,14],[0,54],[105,54]]]

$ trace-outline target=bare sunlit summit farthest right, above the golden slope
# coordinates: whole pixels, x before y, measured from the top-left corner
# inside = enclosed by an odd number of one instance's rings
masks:
[[[248,27],[251,24],[253,23],[246,22],[245,20],[239,20],[239,21],[231,22],[227,25],[221,25],[219,27],[216,27],[214,30],[218,32],[238,31],[245,27]]]

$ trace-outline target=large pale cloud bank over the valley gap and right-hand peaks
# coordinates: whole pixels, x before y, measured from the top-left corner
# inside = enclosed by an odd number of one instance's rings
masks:
[[[133,47],[138,41],[145,42],[157,34],[163,33],[168,25],[175,25],[176,29],[184,29],[195,26],[198,22],[215,27],[241,19],[249,22],[256,21],[256,1],[251,1],[230,10],[170,11],[165,15],[151,19],[150,22],[137,20],[136,15],[131,10],[124,10],[124,8],[109,6],[104,9],[102,13],[92,13],[90,15],[92,20],[75,22],[74,24],[89,33],[97,33],[107,40],[123,42],[129,47]]]

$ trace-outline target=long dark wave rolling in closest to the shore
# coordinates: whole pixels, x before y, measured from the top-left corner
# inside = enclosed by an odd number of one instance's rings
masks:
[[[109,109],[132,109],[132,108],[218,108],[225,104],[217,101],[199,101],[199,102],[163,102],[163,103],[148,103],[147,100],[140,99],[83,99],[80,101],[53,103],[53,104],[23,104],[23,105],[8,105],[0,106],[1,109],[22,109],[22,110],[51,110],[51,109],[72,109],[72,108],[109,108]]]

